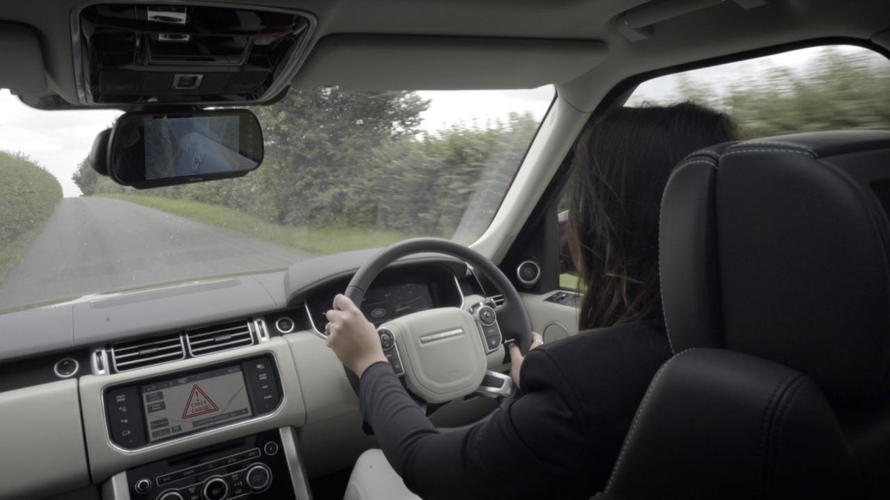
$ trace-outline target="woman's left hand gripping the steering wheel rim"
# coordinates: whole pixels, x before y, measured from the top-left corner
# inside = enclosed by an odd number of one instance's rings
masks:
[[[361,378],[361,374],[377,361],[386,362],[376,328],[346,295],[334,297],[334,309],[325,315],[328,317],[325,327],[328,347],[352,373]]]

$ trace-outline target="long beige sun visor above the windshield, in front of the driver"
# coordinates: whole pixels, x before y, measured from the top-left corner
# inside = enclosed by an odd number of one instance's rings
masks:
[[[331,35],[321,38],[293,86],[361,90],[518,89],[558,84],[606,55],[595,40]]]

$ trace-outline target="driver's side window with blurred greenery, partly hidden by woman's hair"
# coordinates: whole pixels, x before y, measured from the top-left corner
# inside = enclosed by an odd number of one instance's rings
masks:
[[[730,114],[745,137],[837,129],[890,130],[890,60],[854,45],[782,52],[653,78],[625,106],[692,101]],[[566,190],[568,191],[568,190]],[[559,202],[560,247],[568,249],[568,194]],[[561,252],[560,286],[577,274]]]

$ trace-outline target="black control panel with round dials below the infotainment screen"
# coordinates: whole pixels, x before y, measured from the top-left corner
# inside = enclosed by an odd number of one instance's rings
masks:
[[[134,467],[103,487],[106,500],[310,500],[295,431],[282,427]]]

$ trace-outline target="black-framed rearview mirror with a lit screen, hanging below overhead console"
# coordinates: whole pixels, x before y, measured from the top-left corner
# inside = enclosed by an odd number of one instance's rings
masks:
[[[247,109],[117,118],[109,137],[108,173],[137,189],[247,175],[263,161],[263,131]]]

